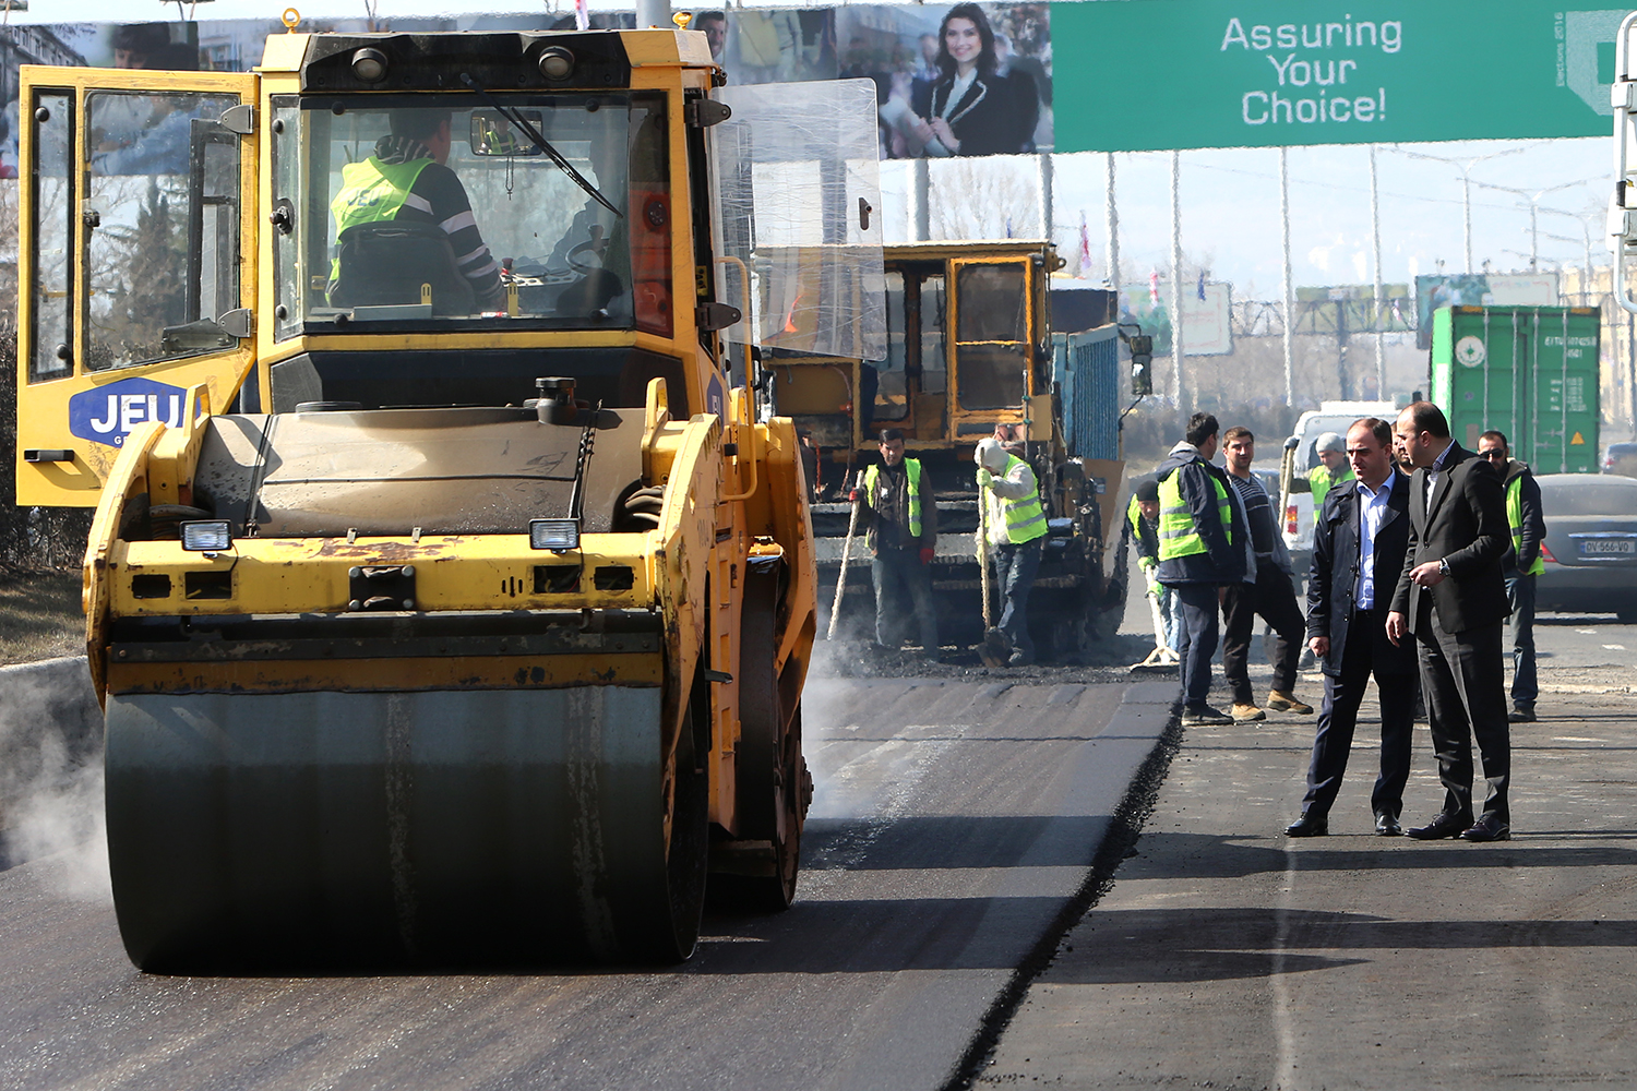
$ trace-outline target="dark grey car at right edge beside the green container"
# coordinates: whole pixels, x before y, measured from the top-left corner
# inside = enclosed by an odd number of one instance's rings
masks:
[[[1637,623],[1637,478],[1542,474],[1545,572],[1536,608]]]

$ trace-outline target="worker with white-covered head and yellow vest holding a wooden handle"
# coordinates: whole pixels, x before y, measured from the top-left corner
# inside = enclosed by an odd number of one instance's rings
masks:
[[[1007,638],[1013,667],[1035,662],[1035,641],[1028,635],[1028,594],[1039,572],[1046,541],[1046,509],[1039,502],[1039,484],[1030,465],[1007,451],[990,437],[972,453],[977,463],[977,489],[989,523],[989,554],[1000,587],[1000,622],[995,628]]]

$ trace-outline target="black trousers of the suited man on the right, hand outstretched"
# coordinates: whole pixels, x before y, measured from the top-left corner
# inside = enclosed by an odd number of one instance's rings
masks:
[[[1501,623],[1465,633],[1445,633],[1423,595],[1416,618],[1421,690],[1427,702],[1437,775],[1444,782],[1444,811],[1472,815],[1472,739],[1478,739],[1488,797],[1483,813],[1511,823],[1506,790],[1513,774],[1511,726],[1506,721],[1506,680],[1501,671]]]

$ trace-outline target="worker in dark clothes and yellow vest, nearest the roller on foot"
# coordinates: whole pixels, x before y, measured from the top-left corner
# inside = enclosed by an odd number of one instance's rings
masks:
[[[938,607],[931,597],[931,559],[938,551],[938,504],[931,474],[904,456],[904,432],[882,429],[881,465],[864,471],[853,502],[869,515],[869,574],[876,584],[876,643],[897,651],[909,610],[920,623],[922,653],[938,662]]]

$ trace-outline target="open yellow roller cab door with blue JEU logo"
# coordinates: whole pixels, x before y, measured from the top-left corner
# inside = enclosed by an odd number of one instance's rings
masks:
[[[257,77],[20,77],[16,502],[90,507],[133,429],[254,363]]]

